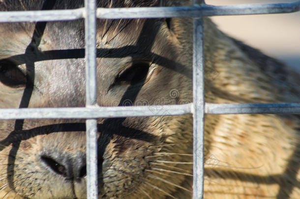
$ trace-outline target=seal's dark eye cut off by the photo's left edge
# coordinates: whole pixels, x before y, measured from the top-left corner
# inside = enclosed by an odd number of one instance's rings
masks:
[[[0,82],[10,87],[21,87],[27,83],[26,75],[11,61],[0,61]]]

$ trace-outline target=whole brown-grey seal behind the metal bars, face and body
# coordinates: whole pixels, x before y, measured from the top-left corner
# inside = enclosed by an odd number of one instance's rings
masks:
[[[83,4],[1,0],[0,10]],[[204,23],[207,102],[300,101],[299,74]],[[192,101],[192,19],[98,20],[96,47],[99,106]],[[83,106],[83,20],[0,24],[0,108]],[[86,199],[85,130],[83,119],[1,120],[0,196]],[[206,115],[205,198],[299,198],[299,133],[299,115]],[[192,198],[192,142],[189,114],[98,119],[98,198]]]

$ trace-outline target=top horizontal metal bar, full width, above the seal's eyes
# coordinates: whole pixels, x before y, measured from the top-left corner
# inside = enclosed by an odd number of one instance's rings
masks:
[[[292,13],[300,11],[300,1],[293,3],[242,4],[213,6],[203,4],[192,7],[138,7],[97,8],[99,19],[206,17],[221,15],[254,15]],[[66,21],[85,18],[84,8],[43,11],[3,11],[0,22]]]

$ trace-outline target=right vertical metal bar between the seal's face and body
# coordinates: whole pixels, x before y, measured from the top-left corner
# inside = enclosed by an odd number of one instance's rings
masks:
[[[194,0],[194,5],[204,4]],[[204,29],[203,19],[194,19],[193,32],[193,199],[203,198],[204,181]]]

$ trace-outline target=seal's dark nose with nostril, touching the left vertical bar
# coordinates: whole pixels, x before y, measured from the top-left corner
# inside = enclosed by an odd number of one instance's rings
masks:
[[[80,180],[87,175],[86,157],[83,153],[44,154],[41,161],[48,170],[69,180]]]

